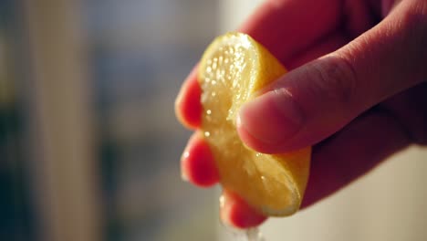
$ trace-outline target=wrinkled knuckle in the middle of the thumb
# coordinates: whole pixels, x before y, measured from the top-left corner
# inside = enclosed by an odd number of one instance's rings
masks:
[[[348,105],[355,95],[357,76],[345,58],[328,57],[313,63],[313,92],[319,100],[328,99],[336,104]]]

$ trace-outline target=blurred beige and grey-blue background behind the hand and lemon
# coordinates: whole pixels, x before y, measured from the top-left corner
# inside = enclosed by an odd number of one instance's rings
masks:
[[[173,101],[261,1],[1,0],[0,240],[234,240],[218,190],[181,180]],[[427,240],[413,147],[266,240]]]

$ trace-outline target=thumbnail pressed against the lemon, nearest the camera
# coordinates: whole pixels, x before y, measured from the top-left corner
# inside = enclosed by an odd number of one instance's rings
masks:
[[[302,111],[291,94],[276,89],[246,103],[236,125],[257,141],[276,145],[293,137],[302,122]]]

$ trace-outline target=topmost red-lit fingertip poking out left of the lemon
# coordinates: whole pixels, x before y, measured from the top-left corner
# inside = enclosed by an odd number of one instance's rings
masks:
[[[197,81],[197,66],[185,79],[175,100],[175,115],[189,129],[199,128],[202,122],[202,89]]]

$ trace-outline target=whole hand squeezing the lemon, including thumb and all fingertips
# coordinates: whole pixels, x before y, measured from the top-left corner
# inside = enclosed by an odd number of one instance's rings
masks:
[[[427,145],[427,1],[266,1],[238,30],[291,70],[242,107],[237,131],[258,152],[313,146],[303,208],[393,153]],[[179,120],[193,130],[202,110],[196,72],[175,103]],[[218,174],[203,144],[196,131],[182,175],[211,186]],[[249,227],[266,220],[238,196],[225,196],[224,222]]]

